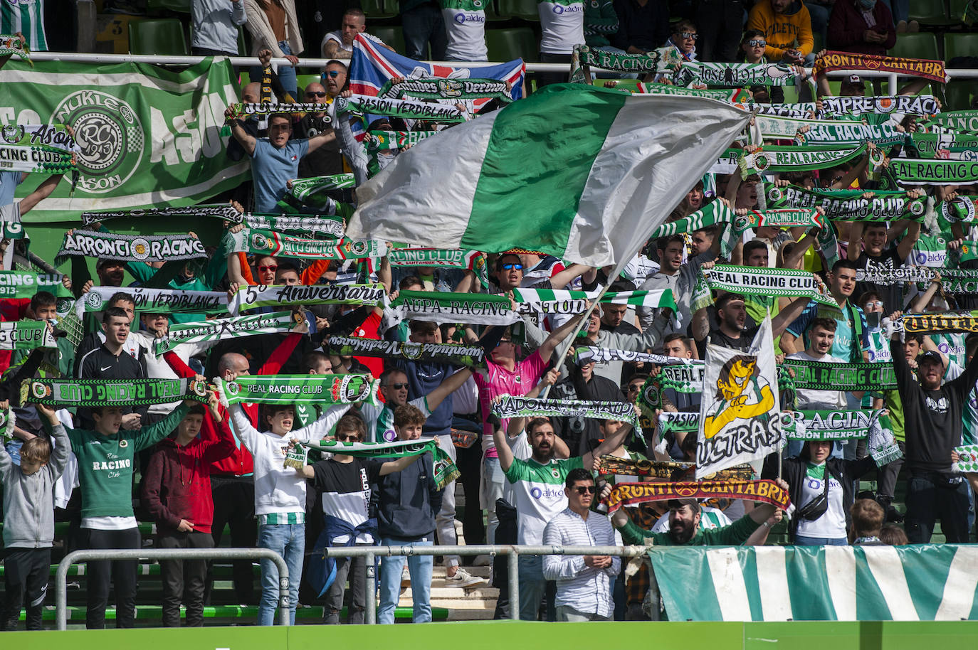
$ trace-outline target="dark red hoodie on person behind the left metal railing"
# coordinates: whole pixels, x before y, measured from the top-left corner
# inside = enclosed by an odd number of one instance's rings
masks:
[[[163,438],[156,445],[143,478],[143,504],[156,520],[159,535],[177,532],[181,519],[194,525],[195,533],[210,533],[214,521],[214,501],[210,496],[210,470],[217,460],[235,451],[235,439],[227,418],[215,432],[210,413],[203,417],[200,436],[186,447],[173,438]],[[208,440],[202,438],[204,431]]]

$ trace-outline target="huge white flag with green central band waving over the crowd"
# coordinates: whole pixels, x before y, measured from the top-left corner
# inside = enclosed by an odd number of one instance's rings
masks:
[[[749,116],[700,97],[548,86],[399,155],[357,188],[346,235],[624,262]]]

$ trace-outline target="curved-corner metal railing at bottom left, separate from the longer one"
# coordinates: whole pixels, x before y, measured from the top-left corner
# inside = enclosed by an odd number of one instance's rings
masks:
[[[269,548],[84,548],[68,553],[55,575],[55,627],[67,629],[67,570],[76,562],[115,560],[272,560],[279,568],[279,625],[289,625],[289,567]],[[117,614],[117,613],[116,613]]]

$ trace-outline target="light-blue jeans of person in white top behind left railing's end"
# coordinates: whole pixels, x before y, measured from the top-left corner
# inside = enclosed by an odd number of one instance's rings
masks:
[[[305,524],[269,524],[258,527],[258,546],[269,548],[286,560],[289,569],[289,623],[295,625],[295,605],[302,578],[305,555]],[[271,626],[279,604],[279,568],[272,560],[261,560],[261,600],[258,603],[258,625]]]

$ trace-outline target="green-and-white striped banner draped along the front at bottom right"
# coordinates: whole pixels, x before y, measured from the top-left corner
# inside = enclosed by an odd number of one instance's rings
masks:
[[[656,546],[648,556],[670,621],[978,619],[978,546]]]

